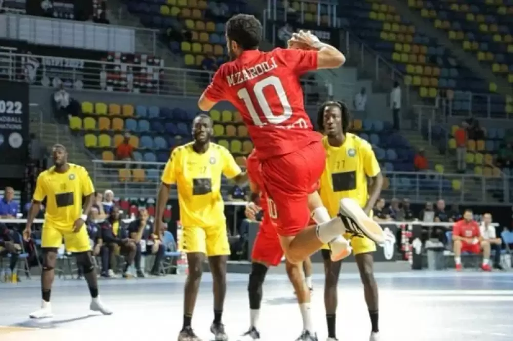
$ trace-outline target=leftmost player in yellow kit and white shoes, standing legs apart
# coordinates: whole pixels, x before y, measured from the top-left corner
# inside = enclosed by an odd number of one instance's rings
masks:
[[[30,314],[31,318],[53,316],[50,293],[54,278],[57,250],[63,244],[67,252],[76,256],[78,267],[86,278],[92,301],[89,309],[105,315],[112,312],[100,301],[96,268],[85,222],[93,204],[94,187],[87,170],[68,163],[68,153],[63,145],[52,147],[53,167],[42,172],[35,185],[27,225],[23,231],[25,240],[30,238],[31,226],[46,198],[45,221],[41,237],[43,272],[41,274],[41,309]],[[83,200],[83,198],[85,198]]]

